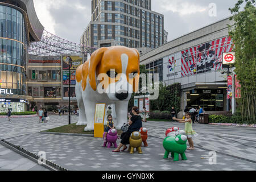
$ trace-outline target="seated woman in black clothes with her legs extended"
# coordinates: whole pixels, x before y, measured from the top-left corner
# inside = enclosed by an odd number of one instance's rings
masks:
[[[141,115],[139,115],[139,108],[134,106],[133,109],[131,110],[132,113],[134,114],[133,116],[129,115],[129,129],[125,133],[122,133],[121,135],[121,142],[119,146],[113,150],[113,152],[120,152],[120,148],[123,147],[122,151],[125,151],[127,146],[126,144],[129,144],[129,139],[131,136],[131,133],[134,131],[139,131],[142,127],[142,118]]]

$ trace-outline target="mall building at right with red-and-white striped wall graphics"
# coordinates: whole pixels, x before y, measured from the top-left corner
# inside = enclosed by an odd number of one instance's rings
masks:
[[[228,24],[232,24],[229,18],[223,19],[141,56],[141,64],[150,73],[158,73],[159,81],[167,85],[181,83],[181,110],[199,105],[209,113],[226,110],[222,53],[234,49]]]

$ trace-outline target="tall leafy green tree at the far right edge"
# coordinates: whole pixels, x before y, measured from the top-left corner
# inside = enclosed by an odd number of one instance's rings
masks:
[[[243,2],[246,2],[245,8],[243,11],[239,11]],[[236,50],[234,66],[241,84],[241,99],[238,99],[238,110],[241,111],[243,121],[255,122],[255,0],[239,0],[235,7],[229,10],[233,14],[230,20],[234,20],[234,24],[229,26],[229,35],[233,39]]]

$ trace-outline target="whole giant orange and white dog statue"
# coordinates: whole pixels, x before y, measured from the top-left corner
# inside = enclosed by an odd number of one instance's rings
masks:
[[[102,47],[76,70],[79,122],[85,131],[94,130],[95,106],[115,104],[116,129],[127,122],[128,102],[138,91],[139,52],[123,46]],[[101,91],[100,91],[101,90]],[[104,90],[104,93],[102,93]]]

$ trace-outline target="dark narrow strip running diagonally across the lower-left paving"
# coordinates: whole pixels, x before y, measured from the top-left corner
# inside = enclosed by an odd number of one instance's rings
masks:
[[[9,148],[10,150],[16,152],[17,154],[20,154],[20,155],[24,156],[25,158],[30,159],[35,163],[38,163],[38,159],[40,158],[40,156],[33,154],[30,151],[24,150],[24,148],[15,146],[13,143],[7,142],[5,140],[0,140],[0,144]],[[68,171],[68,169],[61,167],[55,163],[52,163],[47,159],[45,160],[45,163],[42,163],[41,165],[43,167],[49,169],[50,171]]]

